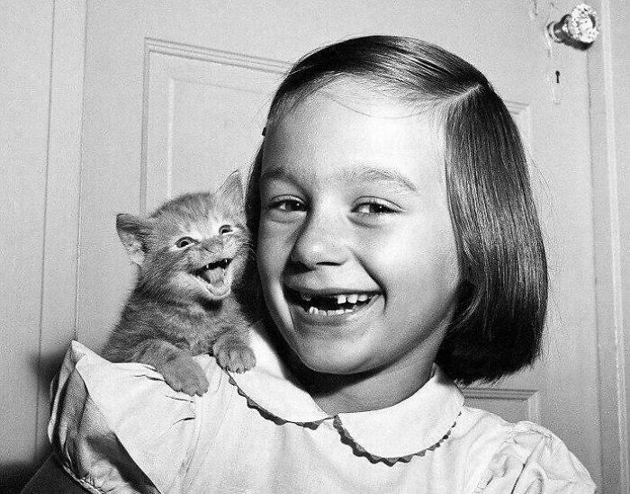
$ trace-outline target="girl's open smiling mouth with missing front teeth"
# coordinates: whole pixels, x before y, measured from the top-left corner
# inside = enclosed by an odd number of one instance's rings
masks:
[[[301,307],[304,312],[320,317],[340,316],[363,309],[378,295],[374,292],[312,293],[287,287],[284,293],[288,301]]]

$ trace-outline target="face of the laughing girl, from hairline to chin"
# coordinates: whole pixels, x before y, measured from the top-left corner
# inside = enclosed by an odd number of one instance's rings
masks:
[[[433,362],[459,283],[444,165],[427,116],[363,93],[312,94],[268,129],[258,268],[311,370],[413,372]]]

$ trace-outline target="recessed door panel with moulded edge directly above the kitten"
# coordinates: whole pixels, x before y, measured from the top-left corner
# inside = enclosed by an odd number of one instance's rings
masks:
[[[146,185],[141,206],[247,177],[287,64],[147,40]]]

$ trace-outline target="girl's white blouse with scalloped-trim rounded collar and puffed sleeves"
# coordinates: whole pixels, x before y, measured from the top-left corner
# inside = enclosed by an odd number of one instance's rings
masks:
[[[252,346],[257,366],[243,374],[195,357],[210,390],[191,398],[148,365],[73,342],[52,386],[53,451],[95,493],[595,491],[558,437],[464,406],[437,367],[391,408],[330,416],[262,332]]]

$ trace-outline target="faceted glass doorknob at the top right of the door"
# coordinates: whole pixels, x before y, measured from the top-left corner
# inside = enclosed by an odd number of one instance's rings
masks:
[[[576,5],[558,22],[547,24],[547,34],[556,43],[577,49],[588,49],[599,35],[599,19],[595,10],[587,4]]]

